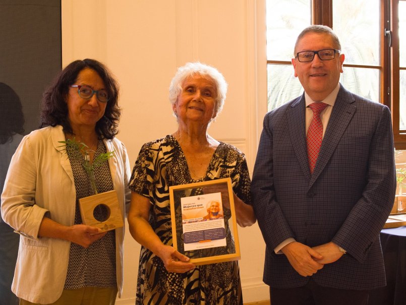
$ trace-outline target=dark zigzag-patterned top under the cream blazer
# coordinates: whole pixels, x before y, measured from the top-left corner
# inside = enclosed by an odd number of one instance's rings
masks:
[[[98,141],[95,157],[105,153],[106,147],[102,140]],[[94,195],[89,178],[84,170],[80,152],[67,148],[71,163],[76,189],[75,224],[82,223],[79,210],[79,198]],[[96,186],[99,193],[113,190],[108,162],[94,170]],[[106,210],[95,210],[96,219],[105,218]],[[115,232],[108,231],[106,235],[93,242],[88,248],[71,243],[69,253],[68,274],[64,289],[82,287],[117,287],[115,275]]]

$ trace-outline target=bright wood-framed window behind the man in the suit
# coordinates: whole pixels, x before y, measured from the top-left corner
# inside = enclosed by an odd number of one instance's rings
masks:
[[[406,0],[267,0],[268,110],[303,88],[291,64],[308,25],[333,28],[345,54],[340,82],[387,105],[397,149],[406,149]]]

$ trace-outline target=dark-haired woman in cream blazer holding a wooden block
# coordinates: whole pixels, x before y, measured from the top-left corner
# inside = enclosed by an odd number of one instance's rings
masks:
[[[113,151],[95,169],[95,183],[99,192],[117,191],[124,220],[130,168],[124,145],[114,138],[118,93],[101,63],[71,63],[43,95],[46,127],[25,136],[11,160],[2,216],[21,235],[12,290],[22,305],[114,304],[122,291],[124,228],[106,232],[82,224],[78,207],[79,198],[93,195],[84,155],[92,162]],[[61,141],[74,138],[88,149],[61,148]]]

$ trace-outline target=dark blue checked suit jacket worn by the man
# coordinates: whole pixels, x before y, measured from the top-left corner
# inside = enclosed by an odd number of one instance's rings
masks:
[[[379,232],[396,189],[389,109],[342,85],[319,157],[310,173],[305,135],[305,97],[264,118],[252,179],[252,201],[266,243],[264,282],[303,286],[285,255],[273,249],[288,237],[314,247],[333,241],[347,251],[312,276],[340,289],[385,285]]]

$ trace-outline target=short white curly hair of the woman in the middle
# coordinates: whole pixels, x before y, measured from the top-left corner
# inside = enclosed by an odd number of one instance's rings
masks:
[[[169,86],[169,101],[172,105],[178,100],[179,94],[182,92],[183,82],[195,75],[200,75],[213,81],[217,96],[216,96],[216,113],[220,113],[224,106],[225,95],[227,94],[227,83],[223,75],[214,67],[202,64],[200,62],[187,63],[185,66],[178,68],[177,73],[172,78]]]

